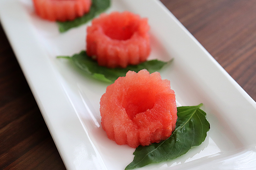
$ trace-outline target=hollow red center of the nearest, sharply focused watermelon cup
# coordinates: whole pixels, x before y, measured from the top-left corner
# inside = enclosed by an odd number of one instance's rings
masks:
[[[124,97],[122,106],[131,120],[136,114],[154,107],[155,95],[150,91],[145,87],[135,87],[135,89],[130,89]]]

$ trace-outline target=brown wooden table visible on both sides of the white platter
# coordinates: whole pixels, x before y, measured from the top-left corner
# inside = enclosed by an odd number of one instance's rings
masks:
[[[254,0],[161,0],[256,100]],[[0,27],[0,169],[65,169]]]

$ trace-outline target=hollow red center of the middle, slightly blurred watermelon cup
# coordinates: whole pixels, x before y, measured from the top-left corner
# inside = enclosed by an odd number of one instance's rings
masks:
[[[138,29],[137,23],[125,23],[122,19],[115,20],[113,24],[105,25],[104,33],[114,40],[128,40]]]

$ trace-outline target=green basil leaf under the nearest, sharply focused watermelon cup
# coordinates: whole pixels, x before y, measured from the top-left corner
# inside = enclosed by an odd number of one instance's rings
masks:
[[[192,147],[199,146],[210,129],[206,113],[199,109],[201,106],[202,104],[178,107],[178,119],[172,135],[159,143],[137,147],[133,153],[135,155],[133,161],[125,170],[172,160],[185,154]]]

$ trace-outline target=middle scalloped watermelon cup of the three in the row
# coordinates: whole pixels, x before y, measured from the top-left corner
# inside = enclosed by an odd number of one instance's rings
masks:
[[[151,51],[149,29],[147,18],[129,11],[101,14],[87,28],[87,54],[109,68],[144,62]]]

